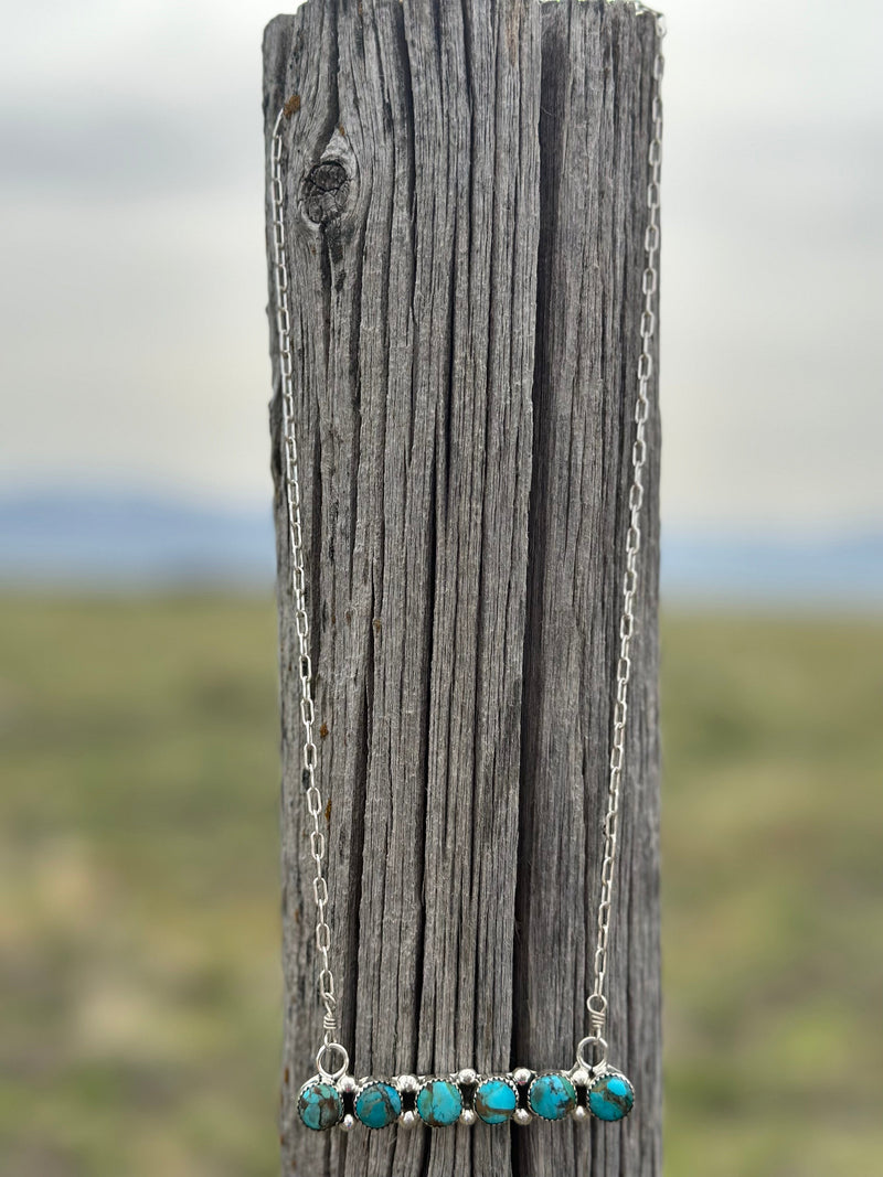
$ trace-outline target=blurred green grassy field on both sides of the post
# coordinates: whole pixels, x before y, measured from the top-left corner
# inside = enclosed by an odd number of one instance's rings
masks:
[[[0,1172],[275,1173],[268,600],[0,614]],[[664,624],[666,1177],[883,1173],[883,621]]]

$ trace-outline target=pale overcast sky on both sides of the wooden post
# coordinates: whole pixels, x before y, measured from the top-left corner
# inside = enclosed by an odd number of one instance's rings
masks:
[[[277,11],[5,7],[0,492],[268,501],[260,39]],[[883,5],[666,13],[665,521],[881,526]]]

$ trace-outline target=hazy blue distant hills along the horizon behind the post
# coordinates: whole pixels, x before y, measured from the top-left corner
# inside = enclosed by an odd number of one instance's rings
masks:
[[[258,588],[275,566],[270,505],[225,511],[150,496],[0,497],[0,584]],[[761,539],[663,530],[669,600],[883,607],[883,534]]]

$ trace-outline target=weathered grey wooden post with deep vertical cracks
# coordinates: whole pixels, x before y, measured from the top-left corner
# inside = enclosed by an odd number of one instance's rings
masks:
[[[266,31],[317,773],[361,1075],[562,1066],[587,1032],[653,53],[622,0],[307,0]],[[658,420],[611,945],[636,1110],[318,1133],[294,1111],[320,1012],[274,374],[284,1172],[658,1177]]]

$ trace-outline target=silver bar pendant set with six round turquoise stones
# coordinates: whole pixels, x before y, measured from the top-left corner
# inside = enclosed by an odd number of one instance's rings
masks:
[[[570,1071],[531,1071],[479,1075],[471,1069],[452,1075],[400,1075],[392,1079],[354,1079],[323,1072],[308,1079],[298,1095],[298,1116],[305,1128],[324,1132],[350,1131],[357,1124],[371,1130],[451,1128],[474,1123],[519,1126],[533,1119],[559,1123],[589,1119],[616,1123],[635,1105],[629,1079],[605,1062]]]

